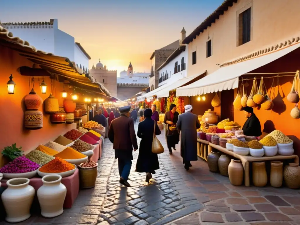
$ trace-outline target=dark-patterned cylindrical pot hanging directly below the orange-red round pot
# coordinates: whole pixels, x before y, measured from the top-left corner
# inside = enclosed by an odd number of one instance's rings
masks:
[[[37,130],[43,127],[43,113],[38,110],[27,110],[24,113],[24,127]]]

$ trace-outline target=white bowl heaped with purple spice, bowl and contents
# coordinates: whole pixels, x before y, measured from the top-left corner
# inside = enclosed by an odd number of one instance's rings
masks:
[[[32,162],[24,155],[0,168],[4,179],[12,178],[32,178],[37,174],[39,164]]]

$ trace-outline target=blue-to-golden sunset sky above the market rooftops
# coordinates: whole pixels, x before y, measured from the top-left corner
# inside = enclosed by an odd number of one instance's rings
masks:
[[[109,70],[150,72],[155,49],[190,34],[223,0],[0,0],[1,22],[58,19],[58,29],[75,37]],[[22,38],[22,37],[20,37]],[[41,49],[42,50],[42,49]]]

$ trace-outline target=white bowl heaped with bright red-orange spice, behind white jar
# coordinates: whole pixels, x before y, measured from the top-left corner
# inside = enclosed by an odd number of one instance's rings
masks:
[[[61,177],[67,177],[71,176],[75,170],[76,165],[70,164],[59,157],[55,157],[55,159],[38,169],[38,175],[43,177],[49,174],[58,174]]]

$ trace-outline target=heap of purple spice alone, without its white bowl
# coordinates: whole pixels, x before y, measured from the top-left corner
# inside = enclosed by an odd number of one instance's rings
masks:
[[[23,155],[1,167],[0,173],[28,173],[37,170],[39,167],[39,164],[30,161]]]

